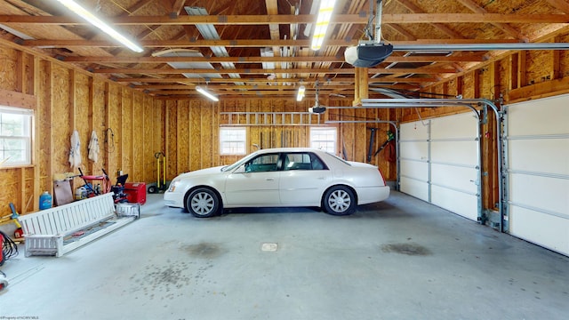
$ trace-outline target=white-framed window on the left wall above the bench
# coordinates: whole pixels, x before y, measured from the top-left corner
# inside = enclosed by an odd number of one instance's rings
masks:
[[[32,163],[31,124],[34,111],[0,106],[0,164]]]

